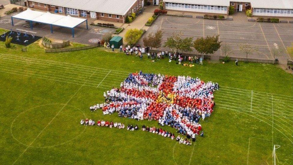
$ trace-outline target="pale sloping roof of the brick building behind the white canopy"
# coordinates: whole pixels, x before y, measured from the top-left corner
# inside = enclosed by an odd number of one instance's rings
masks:
[[[31,0],[32,2],[98,13],[125,15],[137,0]]]

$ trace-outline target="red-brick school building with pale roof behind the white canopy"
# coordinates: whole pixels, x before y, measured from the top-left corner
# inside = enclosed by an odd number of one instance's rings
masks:
[[[125,22],[144,6],[144,0],[27,0],[29,8],[77,17]]]

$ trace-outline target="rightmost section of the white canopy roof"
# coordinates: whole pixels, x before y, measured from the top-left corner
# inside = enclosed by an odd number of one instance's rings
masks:
[[[68,15],[52,23],[52,25],[74,28],[75,26],[79,25],[80,23],[83,23],[84,21],[85,19],[71,17],[70,15]]]

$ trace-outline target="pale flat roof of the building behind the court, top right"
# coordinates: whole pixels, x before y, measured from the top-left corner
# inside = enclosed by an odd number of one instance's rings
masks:
[[[229,6],[230,2],[250,2],[252,8],[293,9],[292,0],[164,0],[164,2],[212,6]]]

